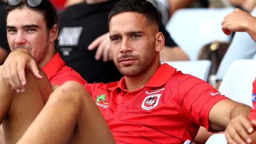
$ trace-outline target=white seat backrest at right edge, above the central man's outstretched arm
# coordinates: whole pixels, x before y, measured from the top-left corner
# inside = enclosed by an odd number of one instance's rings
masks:
[[[256,60],[239,59],[228,68],[219,92],[226,97],[252,107],[252,82],[256,77]]]

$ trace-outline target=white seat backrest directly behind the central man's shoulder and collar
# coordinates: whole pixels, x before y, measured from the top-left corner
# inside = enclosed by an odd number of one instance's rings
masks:
[[[204,81],[207,81],[209,70],[211,67],[211,61],[198,60],[198,61],[163,61],[161,63],[167,63],[173,66],[177,70],[181,70],[183,74],[190,74]]]

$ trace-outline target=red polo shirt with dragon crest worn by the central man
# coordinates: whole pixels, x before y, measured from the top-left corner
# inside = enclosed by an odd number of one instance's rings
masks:
[[[163,64],[132,92],[125,79],[85,85],[117,143],[180,144],[209,129],[211,107],[226,99],[205,81]]]

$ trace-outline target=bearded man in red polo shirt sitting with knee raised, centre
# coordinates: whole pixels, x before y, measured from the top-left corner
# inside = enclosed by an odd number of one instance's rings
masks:
[[[189,144],[200,126],[224,131],[235,116],[250,113],[205,81],[161,65],[165,39],[147,0],[117,3],[109,14],[109,34],[113,61],[124,77],[85,89],[64,83],[18,144]]]

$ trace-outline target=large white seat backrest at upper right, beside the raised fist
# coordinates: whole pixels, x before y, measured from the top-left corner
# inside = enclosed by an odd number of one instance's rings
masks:
[[[215,40],[230,41],[231,37],[221,30],[221,21],[233,10],[233,7],[178,9],[165,28],[190,60],[194,61],[205,44]]]

